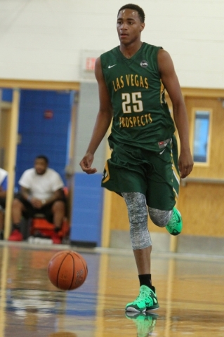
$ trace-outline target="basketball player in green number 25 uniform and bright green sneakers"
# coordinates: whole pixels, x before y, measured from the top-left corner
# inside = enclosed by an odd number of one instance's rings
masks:
[[[117,192],[126,202],[140,281],[139,296],[126,305],[127,312],[159,308],[151,281],[147,211],[155,225],[179,234],[182,219],[174,207],[179,178],[188,176],[193,167],[187,113],[173,62],[162,47],[140,40],[144,22],[145,13],[139,6],[128,4],[119,9],[120,45],[95,62],[100,110],[80,162],[84,172],[96,172],[91,166],[93,156],[112,121],[108,138],[112,155],[105,164],[102,186]],[[164,89],[171,98],[180,137],[179,158]]]

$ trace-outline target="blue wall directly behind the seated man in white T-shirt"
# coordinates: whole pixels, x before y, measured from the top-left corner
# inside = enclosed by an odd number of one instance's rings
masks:
[[[44,154],[49,166],[55,169],[65,182],[67,164],[67,136],[74,92],[33,91],[20,92],[19,130],[15,184],[26,169],[34,165],[34,159]],[[51,119],[44,112],[53,113]]]

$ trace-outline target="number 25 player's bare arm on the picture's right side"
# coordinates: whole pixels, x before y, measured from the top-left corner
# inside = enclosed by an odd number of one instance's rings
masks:
[[[185,178],[190,174],[194,165],[190,152],[187,110],[180,90],[178,77],[174,70],[173,61],[169,53],[164,51],[164,49],[159,50],[158,65],[162,83],[167,93],[169,93],[173,105],[173,117],[180,138],[178,166],[180,169],[180,178]]]

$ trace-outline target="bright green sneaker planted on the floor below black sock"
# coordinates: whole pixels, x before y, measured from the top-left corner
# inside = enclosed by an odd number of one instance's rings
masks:
[[[147,310],[155,310],[158,308],[159,303],[155,289],[152,291],[152,289],[148,286],[140,286],[138,297],[133,302],[128,303],[125,310],[132,312],[145,312]]]

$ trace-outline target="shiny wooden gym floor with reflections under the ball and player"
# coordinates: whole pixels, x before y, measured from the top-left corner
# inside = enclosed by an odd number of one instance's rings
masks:
[[[160,308],[126,317],[139,288],[132,251],[73,247],[88,277],[77,290],[59,291],[46,270],[61,249],[71,247],[1,242],[0,337],[224,336],[224,256],[154,252]]]

